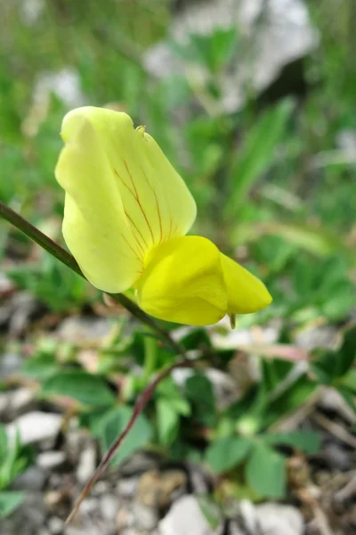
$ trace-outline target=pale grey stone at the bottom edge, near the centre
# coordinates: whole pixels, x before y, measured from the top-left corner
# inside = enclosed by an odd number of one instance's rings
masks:
[[[202,513],[198,499],[183,496],[174,502],[165,518],[158,524],[160,535],[213,535],[206,517]]]

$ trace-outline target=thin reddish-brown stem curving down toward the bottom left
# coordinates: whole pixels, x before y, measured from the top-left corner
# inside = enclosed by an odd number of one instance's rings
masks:
[[[73,507],[71,513],[69,514],[69,517],[66,520],[67,524],[69,524],[70,521],[74,518],[75,514],[77,514],[77,510],[79,509],[79,506],[81,505],[82,501],[86,498],[89,492],[93,489],[93,485],[96,483],[96,481],[98,481],[101,478],[101,475],[108,468],[109,462],[117,453],[117,450],[120,448],[121,444],[125,440],[127,433],[130,432],[131,429],[133,428],[134,423],[137,417],[141,415],[143,408],[146,407],[147,403],[150,401],[150,398],[153,392],[156,390],[158,384],[161,381],[163,381],[163,379],[166,379],[167,375],[169,375],[175,368],[182,367],[182,366],[192,366],[193,364],[194,364],[194,361],[187,360],[184,358],[183,360],[180,360],[179,362],[176,362],[175,364],[166,367],[151,381],[151,383],[147,386],[147,388],[142,392],[142,394],[140,395],[140,397],[136,400],[136,403],[134,404],[133,414],[130,420],[128,421],[128,423],[126,424],[125,429],[118,435],[117,440],[115,440],[115,442],[112,443],[108,451],[102,457],[101,463],[97,467],[95,472],[93,473],[93,476],[85,484],[85,488],[80,493],[80,496],[77,499],[76,505]]]

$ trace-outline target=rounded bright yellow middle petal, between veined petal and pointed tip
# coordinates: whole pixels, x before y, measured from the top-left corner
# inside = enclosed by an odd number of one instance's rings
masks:
[[[220,252],[200,236],[159,245],[136,287],[140,307],[167,321],[212,325],[227,311]]]

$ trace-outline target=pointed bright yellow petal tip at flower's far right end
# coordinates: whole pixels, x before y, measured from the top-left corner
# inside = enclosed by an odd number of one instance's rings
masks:
[[[265,285],[247,269],[220,253],[228,293],[229,314],[249,314],[271,304]]]

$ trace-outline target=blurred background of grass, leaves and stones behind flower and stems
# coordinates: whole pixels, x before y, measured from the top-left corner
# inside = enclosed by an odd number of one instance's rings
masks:
[[[166,325],[207,356],[161,383],[64,527],[152,374],[176,358],[0,222],[1,535],[356,532],[356,4],[0,1],[0,200],[58,243],[61,119],[144,124],[266,310]],[[194,354],[194,353],[192,353]]]

